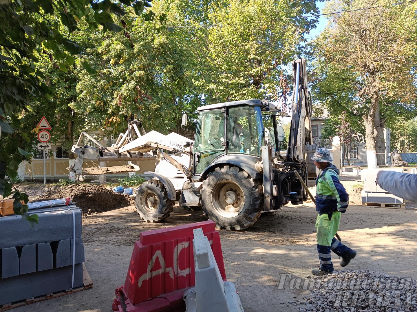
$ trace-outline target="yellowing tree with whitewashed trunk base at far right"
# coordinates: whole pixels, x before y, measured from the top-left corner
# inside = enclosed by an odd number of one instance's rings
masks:
[[[330,2],[328,11],[370,8],[330,15],[331,23],[314,44],[318,62],[328,64],[331,73],[340,72],[336,90],[350,92],[353,111],[363,113],[368,157],[385,151],[383,129],[387,119],[383,114],[404,110],[415,114],[417,101],[412,70],[417,4],[392,6],[378,0],[372,5],[364,0]],[[333,74],[327,79],[335,77]],[[384,155],[378,162],[384,163]],[[368,158],[368,165],[377,165],[374,156]]]

